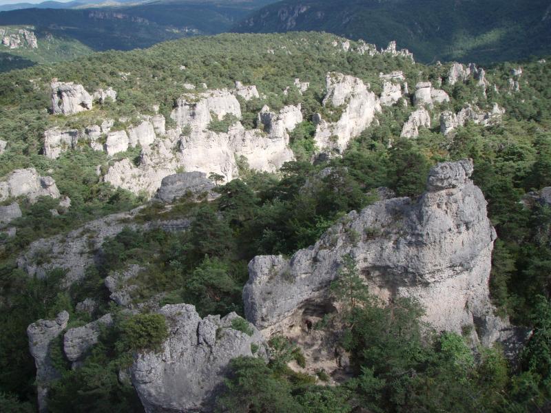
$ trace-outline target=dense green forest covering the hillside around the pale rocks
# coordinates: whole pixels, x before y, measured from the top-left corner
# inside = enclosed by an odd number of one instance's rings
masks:
[[[492,127],[468,123],[450,139],[439,125],[421,129],[415,139],[399,138],[411,105],[395,105],[377,115],[379,123],[351,142],[340,158],[312,164],[315,149],[311,116],[322,112],[325,74],[352,74],[380,92],[380,72],[402,70],[411,85],[445,78],[449,65],[422,65],[388,54],[362,56],[342,52],[331,34],[222,34],[183,39],[147,50],[103,52],[75,61],[14,70],[0,75],[0,138],[9,142],[0,155],[0,176],[23,167],[51,175],[72,207],[52,215],[56,202],[21,201],[23,217],[13,222],[17,235],[0,235],[0,410],[35,410],[34,361],[28,352],[27,326],[70,313],[70,327],[90,321],[76,310],[86,297],[99,301],[96,315],[112,313],[83,365],[72,370],[61,341],[52,357],[61,377],[52,385],[52,412],[140,412],[136,392],[119,372],[141,348],[156,348],[166,337],[163,317],[129,315],[109,299],[104,279],[127,264],[141,264],[134,303],[194,304],[200,315],[243,313],[242,286],[247,263],[255,255],[289,256],[313,244],[349,211],[375,202],[373,189],[389,187],[397,196],[415,199],[426,187],[432,165],[443,160],[472,158],[473,180],[488,201],[498,240],[492,258],[490,288],[495,306],[519,326],[534,333],[521,357],[508,361],[499,347],[473,346],[465,337],[435,332],[422,324],[423,308],[410,299],[391,304],[377,299],[360,282],[352,261],[340,270],[335,297],[360,305],[344,306],[337,316],[315,328],[344,326],[342,346],[351,354],[353,378],[324,385],[317,377],[291,370],[301,363],[300,348],[286,339],[270,341],[271,359],[238,358],[231,363],[220,412],[542,412],[551,400],[551,208],[521,200],[530,191],[551,186],[551,67],[538,59],[486,67],[487,97],[472,79],[442,88],[451,97],[438,110],[459,110],[477,102],[484,109],[498,103],[506,109],[503,122]],[[343,41],[344,39],[340,39]],[[355,47],[353,42],[352,47]],[[273,54],[267,52],[273,50]],[[186,69],[180,67],[185,65]],[[521,65],[520,91],[508,93],[510,70]],[[121,74],[125,74],[121,76]],[[54,117],[50,78],[81,83],[88,90],[112,86],[118,101],[94,105],[90,112]],[[300,95],[282,94],[294,78],[311,83]],[[39,79],[39,81],[37,81]],[[127,211],[144,199],[101,182],[96,166],[113,162],[90,148],[67,151],[57,160],[41,154],[43,131],[53,125],[83,127],[96,120],[152,114],[152,105],[169,119],[183,83],[207,83],[211,89],[233,87],[234,81],[258,87],[264,99],[242,105],[243,124],[256,125],[265,103],[272,109],[302,104],[304,122],[291,134],[296,161],[280,173],[259,173],[241,163],[240,179],[217,187],[220,198],[191,202],[181,198],[167,210],[150,202],[136,222],[191,218],[189,231],[143,231],[127,228],[105,241],[101,260],[86,277],[62,288],[63,271],[43,279],[29,277],[17,257],[34,240],[66,233],[116,211]],[[501,92],[497,92],[497,90]],[[392,142],[392,145],[389,145]],[[137,156],[136,150],[117,156]],[[333,167],[313,191],[301,190],[307,179]],[[352,292],[352,293],[351,293]],[[243,327],[241,327],[243,328]],[[473,348],[474,347],[474,348]]]

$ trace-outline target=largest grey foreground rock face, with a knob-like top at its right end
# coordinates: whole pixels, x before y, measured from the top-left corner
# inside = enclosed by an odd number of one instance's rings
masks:
[[[243,290],[247,319],[267,335],[284,330],[305,303],[327,296],[350,254],[373,293],[417,298],[436,330],[470,326],[475,341],[503,339],[508,322],[493,315],[488,292],[495,231],[471,173],[470,160],[441,163],[417,203],[376,202],[349,213],[290,260],[255,257]]]

